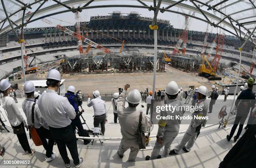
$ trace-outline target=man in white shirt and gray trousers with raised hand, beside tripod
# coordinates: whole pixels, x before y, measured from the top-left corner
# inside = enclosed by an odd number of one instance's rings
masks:
[[[100,99],[100,91],[93,91],[94,99],[91,100],[91,95],[88,94],[87,106],[93,107],[94,110],[94,127],[101,127],[101,132],[104,135],[105,133],[105,123],[107,120],[107,107],[105,101]]]

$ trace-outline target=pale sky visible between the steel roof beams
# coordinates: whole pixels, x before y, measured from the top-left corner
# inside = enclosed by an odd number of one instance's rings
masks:
[[[34,0],[24,0],[24,1],[27,1],[27,3],[31,3]],[[66,1],[66,0],[61,0],[61,2],[64,2],[64,1]],[[202,1],[206,2],[207,0],[202,0]],[[212,3],[215,4],[218,1],[220,1],[220,0],[214,0]],[[234,0],[230,0],[229,2],[231,3],[231,1],[234,1]],[[8,4],[7,2],[8,1],[6,0],[5,3],[7,4],[7,7],[9,7],[9,9],[11,10],[12,9],[12,6],[11,6],[12,4]],[[88,2],[88,0],[85,1],[85,2]],[[145,3],[147,5],[153,5],[153,3],[151,3],[151,2],[145,2]],[[184,1],[183,3],[187,3],[189,5],[192,5],[191,2],[189,2],[188,0]],[[51,5],[51,4],[56,4],[56,2],[47,1],[46,4],[44,4],[42,8],[44,8],[48,5]],[[73,7],[83,6],[84,4],[85,3],[79,4],[79,5],[74,5]],[[132,0],[132,1],[131,0],[111,0],[111,1],[92,2],[89,6],[109,5],[109,4],[114,4],[114,5],[118,5],[118,4],[141,5],[138,1],[135,1],[135,0]],[[243,6],[244,4],[241,4],[241,5]],[[167,5],[161,5],[161,7],[166,7],[166,6]],[[33,10],[35,10],[36,7],[37,6],[34,6]],[[234,9],[234,10],[227,9],[226,13],[228,14],[228,13],[232,13],[233,11],[239,10],[240,6],[236,5],[236,7],[238,9]],[[171,9],[175,10],[175,11],[179,11],[179,12],[189,13],[188,10],[182,10],[178,7],[172,7]],[[53,10],[51,12],[44,13],[44,15],[47,15],[47,14],[52,13],[52,12],[58,12],[59,10],[65,10],[65,8],[61,8],[61,9],[58,9],[58,10]],[[205,10],[205,8],[204,8],[204,10]],[[118,7],[118,8],[117,7],[111,7],[111,8],[97,8],[97,9],[83,10],[82,12],[80,12],[80,16],[81,16],[82,21],[89,21],[91,16],[109,15],[109,13],[112,13],[113,11],[120,11],[121,13],[130,13],[131,11],[136,11],[139,14],[141,14],[141,16],[154,17],[154,12],[153,11],[148,11],[147,9],[141,9],[141,8],[125,8],[125,7]],[[208,11],[208,12],[211,12],[211,11]],[[42,15],[39,15],[39,16],[36,16],[36,17],[40,17],[40,16],[42,16]],[[196,13],[195,16],[205,19],[201,14]],[[243,17],[243,15],[241,15],[240,17]],[[54,15],[52,17],[47,17],[46,19],[50,20],[52,22],[52,24],[48,25],[47,23],[45,23],[41,20],[38,20],[36,22],[32,22],[32,23],[28,24],[27,27],[49,27],[49,26],[56,26],[57,24],[65,26],[65,25],[74,25],[74,23],[75,23],[73,12],[62,13],[60,15]],[[174,14],[174,13],[171,13],[171,12],[164,12],[164,13],[159,12],[158,19],[170,20],[170,24],[173,25],[175,28],[183,28],[183,25],[184,25],[184,16]],[[62,20],[62,21],[60,21],[60,20]],[[205,32],[206,27],[207,27],[207,23],[202,22],[200,20],[191,19],[189,30],[197,30],[197,31]],[[226,28],[228,30],[231,30],[228,27],[226,27]],[[209,32],[216,33],[217,31],[219,32],[219,28],[215,28],[215,27],[213,27],[213,28],[210,27],[209,28]],[[225,34],[229,35],[228,32],[225,32]]]

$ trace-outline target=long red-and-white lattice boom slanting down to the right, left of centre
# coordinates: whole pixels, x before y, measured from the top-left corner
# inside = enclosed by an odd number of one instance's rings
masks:
[[[77,39],[81,39],[83,42],[91,45],[92,47],[95,47],[95,48],[99,49],[100,51],[102,51],[104,53],[110,53],[110,50],[106,49],[105,47],[102,47],[100,44],[97,44],[96,42],[93,42],[92,40],[89,40],[86,37],[83,37],[83,36],[73,32],[72,30],[67,29],[66,27],[62,27],[61,25],[57,25],[56,28],[60,29],[63,32],[66,32],[69,35],[72,35],[72,36],[76,37]]]

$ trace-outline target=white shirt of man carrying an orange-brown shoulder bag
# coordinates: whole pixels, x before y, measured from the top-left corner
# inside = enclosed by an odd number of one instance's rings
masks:
[[[48,124],[44,120],[44,118],[41,115],[41,111],[38,108],[38,105],[35,104],[34,108],[34,124],[32,124],[32,106],[35,103],[35,99],[27,98],[22,102],[22,109],[27,117],[28,126],[34,126],[35,128],[40,128],[41,126],[44,126],[44,128],[49,129]]]

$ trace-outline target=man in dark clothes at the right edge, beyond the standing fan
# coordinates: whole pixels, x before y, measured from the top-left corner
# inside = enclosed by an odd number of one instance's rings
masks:
[[[236,142],[236,140],[239,138],[243,130],[243,124],[246,121],[246,118],[248,116],[248,113],[250,112],[250,109],[252,111],[254,108],[254,104],[256,103],[256,101],[252,91],[253,83],[254,83],[254,80],[252,77],[250,77],[247,81],[248,88],[243,90],[236,99],[235,105],[237,106],[237,114],[236,114],[236,119],[234,121],[233,127],[230,131],[230,134],[227,135],[228,141],[230,141],[230,139],[234,135],[236,128],[239,124],[239,128],[236,133],[236,136],[234,136],[234,141]]]

